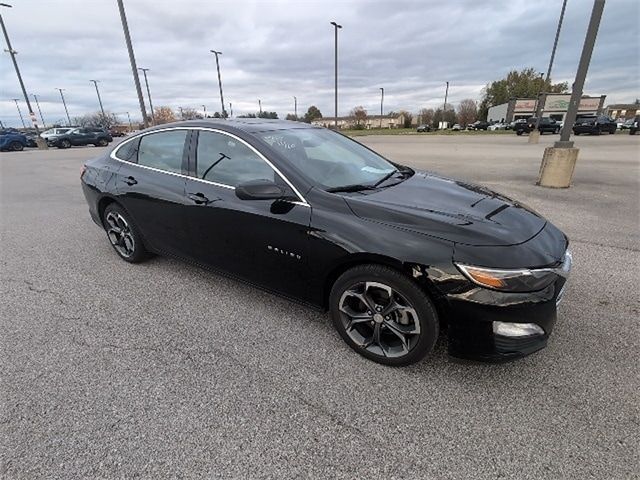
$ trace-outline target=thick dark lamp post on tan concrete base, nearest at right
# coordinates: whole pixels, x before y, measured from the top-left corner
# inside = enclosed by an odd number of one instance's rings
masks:
[[[605,0],[594,0],[593,9],[591,11],[591,19],[589,27],[582,47],[580,55],[580,63],[578,71],[573,82],[571,92],[571,100],[569,108],[564,118],[564,125],[560,133],[560,140],[553,147],[547,147],[542,157],[542,165],[540,166],[540,174],[538,176],[537,185],[553,188],[567,188],[571,185],[571,178],[578,160],[578,148],[574,148],[573,142],[569,141],[573,124],[576,121],[578,107],[582,99],[582,90],[584,82],[587,78],[587,71],[591,63],[591,54],[598,36],[598,28],[600,27],[600,19],[604,10]]]

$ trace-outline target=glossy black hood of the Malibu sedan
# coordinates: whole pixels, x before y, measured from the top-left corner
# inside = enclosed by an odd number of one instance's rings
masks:
[[[466,245],[523,243],[546,224],[534,211],[487,188],[427,172],[345,200],[358,217]]]

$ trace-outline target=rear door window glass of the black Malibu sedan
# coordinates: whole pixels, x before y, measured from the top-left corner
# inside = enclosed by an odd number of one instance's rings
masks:
[[[167,172],[182,173],[182,156],[188,130],[145,135],[140,139],[138,164]]]

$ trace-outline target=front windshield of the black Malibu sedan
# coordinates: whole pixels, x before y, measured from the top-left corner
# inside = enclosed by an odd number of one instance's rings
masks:
[[[344,135],[324,128],[276,130],[256,134],[323,189],[376,186],[397,168]]]

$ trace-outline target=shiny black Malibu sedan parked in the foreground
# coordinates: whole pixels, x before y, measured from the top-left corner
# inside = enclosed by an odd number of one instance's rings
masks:
[[[524,205],[299,122],[154,127],[81,180],[123,260],[170,255],[327,309],[387,365],[422,359],[443,327],[458,357],[543,348],[571,267],[567,237]]]

